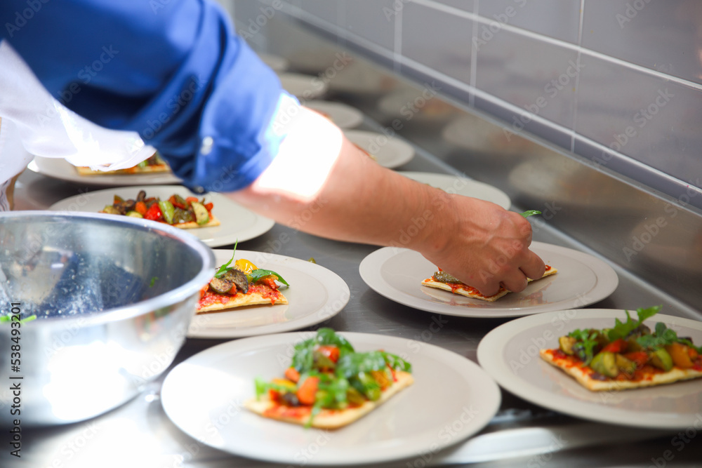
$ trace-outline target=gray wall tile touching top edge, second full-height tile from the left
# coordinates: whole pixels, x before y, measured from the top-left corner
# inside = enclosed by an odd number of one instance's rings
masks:
[[[470,83],[472,20],[406,4],[402,10],[402,55]]]

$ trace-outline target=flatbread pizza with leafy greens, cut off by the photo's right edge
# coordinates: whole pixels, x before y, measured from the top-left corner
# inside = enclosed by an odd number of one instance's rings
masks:
[[[665,323],[654,331],[644,320],[661,307],[626,312],[613,328],[574,330],[559,337],[557,349],[541,349],[541,359],[573,377],[592,392],[618,391],[671,384],[702,377],[702,348],[678,337]]]

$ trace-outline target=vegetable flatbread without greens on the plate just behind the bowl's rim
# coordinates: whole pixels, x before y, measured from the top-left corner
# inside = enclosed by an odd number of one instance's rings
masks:
[[[178,194],[171,195],[167,200],[157,196],[146,196],[140,190],[136,199],[123,199],[115,195],[112,205],[105,205],[100,213],[124,215],[133,218],[163,222],[178,229],[194,229],[198,227],[219,226],[220,221],[212,213],[214,204],[206,203],[205,199],[195,196],[183,198]]]

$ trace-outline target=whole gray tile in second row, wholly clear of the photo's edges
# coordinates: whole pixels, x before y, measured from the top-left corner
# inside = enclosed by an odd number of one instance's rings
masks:
[[[506,29],[479,43],[475,86],[573,128],[578,53]]]

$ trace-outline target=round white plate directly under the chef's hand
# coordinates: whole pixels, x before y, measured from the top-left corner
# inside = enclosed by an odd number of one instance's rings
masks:
[[[496,302],[421,286],[436,266],[405,248],[376,250],[362,260],[359,272],[371,289],[388,299],[427,312],[464,317],[517,317],[582,307],[616,289],[614,269],[592,255],[542,242],[532,242],[531,250],[558,273],[533,281],[521,293],[510,293]]]

